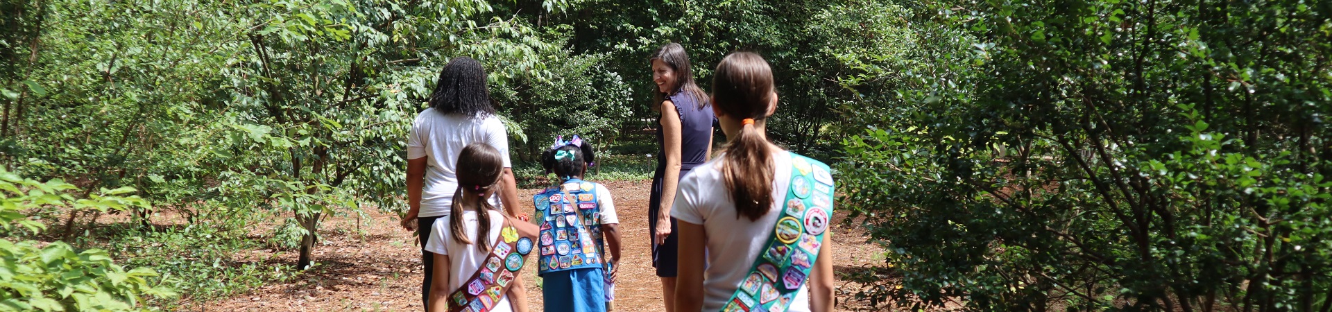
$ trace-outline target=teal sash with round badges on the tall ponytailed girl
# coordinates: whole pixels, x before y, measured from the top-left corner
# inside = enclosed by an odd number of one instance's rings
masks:
[[[767,245],[723,312],[786,312],[819,256],[832,217],[829,165],[791,153],[790,192]]]

